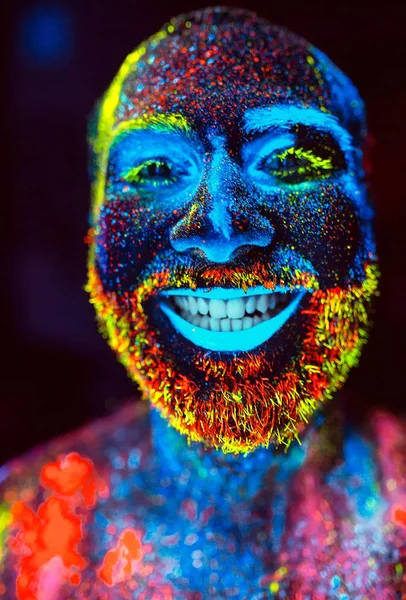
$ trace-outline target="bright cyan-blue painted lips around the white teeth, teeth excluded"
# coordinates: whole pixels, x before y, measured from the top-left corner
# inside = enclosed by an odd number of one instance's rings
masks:
[[[176,295],[204,296],[210,299],[226,300],[257,294],[272,294],[277,292],[278,289],[283,290],[284,288],[280,287],[269,290],[262,286],[258,286],[249,288],[247,292],[244,292],[241,289],[226,288],[213,288],[211,290],[190,290],[183,288],[166,290],[161,295],[163,297]],[[182,318],[168,302],[163,301],[159,306],[162,312],[168,317],[173,327],[183,335],[183,337],[196,346],[217,352],[249,352],[269,340],[281,329],[281,327],[283,327],[288,319],[297,311],[302,298],[309,291],[310,290],[303,288],[295,290],[296,293],[292,300],[278,314],[242,331],[211,331],[209,329],[204,329],[186,321],[186,319]]]

